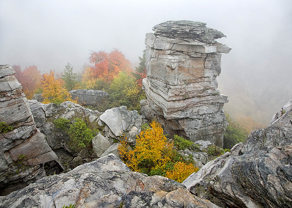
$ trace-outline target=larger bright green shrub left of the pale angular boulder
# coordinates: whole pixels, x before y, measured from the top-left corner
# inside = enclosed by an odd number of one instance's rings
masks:
[[[76,118],[74,121],[75,122],[71,124],[68,132],[70,139],[77,142],[79,147],[89,147],[91,140],[98,130],[91,130],[80,118]]]

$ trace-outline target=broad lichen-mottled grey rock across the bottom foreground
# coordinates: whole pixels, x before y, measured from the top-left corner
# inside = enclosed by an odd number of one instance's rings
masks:
[[[206,207],[218,206],[161,176],[132,172],[110,154],[60,175],[39,179],[0,197],[1,207]]]

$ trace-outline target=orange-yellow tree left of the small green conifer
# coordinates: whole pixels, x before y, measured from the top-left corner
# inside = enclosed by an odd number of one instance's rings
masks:
[[[76,103],[76,101],[71,99],[71,95],[67,89],[62,87],[64,84],[62,80],[55,79],[54,74],[55,73],[50,70],[49,73],[44,74],[44,80],[41,80],[43,83],[43,103],[55,103],[57,105],[65,101]]]

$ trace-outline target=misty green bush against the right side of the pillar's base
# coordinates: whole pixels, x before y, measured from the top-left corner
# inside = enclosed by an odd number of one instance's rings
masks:
[[[235,144],[244,142],[248,136],[248,131],[241,128],[239,124],[231,120],[230,116],[226,113],[226,120],[229,126],[226,128],[223,138],[223,148],[231,149]]]

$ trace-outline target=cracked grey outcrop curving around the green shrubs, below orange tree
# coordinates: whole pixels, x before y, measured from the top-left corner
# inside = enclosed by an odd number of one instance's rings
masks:
[[[86,150],[80,152],[82,150],[72,148],[69,135],[55,128],[53,121],[62,117],[70,120],[72,123],[75,118],[81,118],[87,123],[89,128],[98,129],[97,121],[98,117],[102,114],[101,112],[90,110],[70,101],[55,105],[53,103],[44,104],[31,100],[29,104],[36,127],[44,135],[48,144],[58,156],[58,160],[55,163],[60,166],[60,170],[55,170],[53,173],[59,173],[67,169],[71,170],[78,165],[91,161],[92,155],[83,154]]]

